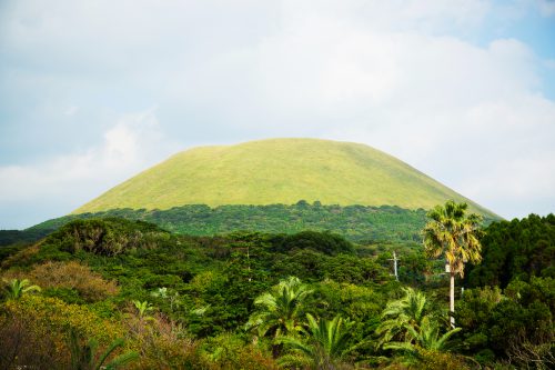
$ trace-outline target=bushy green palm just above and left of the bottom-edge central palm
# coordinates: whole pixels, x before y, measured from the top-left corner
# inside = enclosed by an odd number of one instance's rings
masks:
[[[254,300],[259,309],[249,318],[245,330],[256,329],[260,337],[271,336],[274,339],[300,332],[303,302],[311,293],[312,290],[299,278],[289,277],[280,281],[270,292]]]

